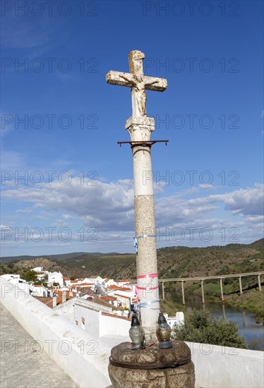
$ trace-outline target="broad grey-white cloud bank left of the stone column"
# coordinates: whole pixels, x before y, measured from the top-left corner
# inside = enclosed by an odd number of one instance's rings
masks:
[[[47,210],[62,210],[76,214],[85,225],[102,227],[105,230],[127,228],[133,221],[133,181],[128,179],[112,183],[97,181],[80,184],[73,178],[64,186],[59,182],[42,187],[6,190],[3,198],[32,202]]]

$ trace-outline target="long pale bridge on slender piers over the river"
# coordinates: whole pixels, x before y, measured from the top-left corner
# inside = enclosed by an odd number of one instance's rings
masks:
[[[202,291],[202,302],[205,303],[205,295],[203,291],[203,282],[205,280],[211,280],[211,279],[219,279],[220,280],[220,298],[222,301],[224,301],[224,291],[223,291],[223,279],[227,278],[239,278],[239,292],[240,295],[243,293],[243,286],[242,286],[242,277],[258,277],[258,290],[261,291],[261,281],[260,281],[260,275],[263,275],[264,272],[248,272],[246,274],[228,274],[228,275],[216,275],[216,276],[208,276],[208,277],[179,277],[179,278],[172,278],[172,279],[159,279],[159,282],[162,283],[162,298],[165,299],[165,293],[164,293],[164,283],[168,281],[181,281],[181,293],[182,293],[182,303],[185,305],[185,296],[184,296],[184,283],[186,281],[200,281],[200,287]]]

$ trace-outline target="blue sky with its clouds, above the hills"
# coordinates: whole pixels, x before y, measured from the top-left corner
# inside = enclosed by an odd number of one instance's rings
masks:
[[[1,22],[2,256],[133,252],[131,94],[105,81],[133,49],[168,80],[157,246],[263,236],[262,1],[2,1]]]

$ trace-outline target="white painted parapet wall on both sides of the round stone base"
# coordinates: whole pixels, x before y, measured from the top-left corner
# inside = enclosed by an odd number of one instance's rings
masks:
[[[0,289],[1,302],[35,340],[42,341],[45,351],[49,351],[47,340],[55,341],[50,356],[80,387],[109,386],[108,358],[116,336],[103,335],[102,340],[92,337],[3,277]],[[68,355],[59,351],[61,341],[71,344]],[[78,346],[80,341],[85,344],[84,349]],[[263,388],[262,351],[187,344],[196,368],[196,388]]]

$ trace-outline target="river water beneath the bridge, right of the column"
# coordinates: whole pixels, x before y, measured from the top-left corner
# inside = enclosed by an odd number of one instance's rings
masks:
[[[166,293],[167,301],[171,300],[181,304],[181,294],[178,293]],[[201,297],[193,293],[186,292],[185,295],[186,308],[197,309],[202,308],[203,303]],[[245,310],[236,310],[229,305],[223,303],[216,303],[206,301],[205,306],[212,310],[214,317],[222,317],[231,320],[239,327],[239,334],[243,334],[248,342],[248,348],[252,350],[264,351],[264,327],[263,323],[257,323],[253,314],[246,312]]]

